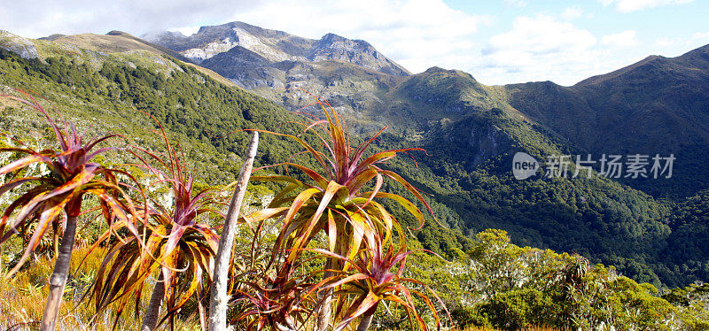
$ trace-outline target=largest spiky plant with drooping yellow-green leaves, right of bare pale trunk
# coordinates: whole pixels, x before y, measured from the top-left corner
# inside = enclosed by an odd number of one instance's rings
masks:
[[[376,236],[381,242],[392,242],[393,236],[401,239],[405,233],[401,224],[395,219],[378,199],[391,199],[409,211],[423,226],[424,214],[416,204],[402,196],[393,195],[381,190],[385,178],[401,184],[417,198],[429,212],[431,208],[421,193],[401,175],[383,169],[379,165],[396,157],[399,152],[421,150],[417,148],[401,150],[383,150],[366,155],[371,143],[385,129],[380,130],[369,140],[353,147],[347,127],[338,114],[327,103],[318,102],[323,109],[325,119],[316,119],[310,123],[300,123],[304,127],[302,134],[312,134],[321,146],[314,147],[296,135],[270,134],[288,137],[298,142],[307,154],[320,165],[319,171],[295,162],[280,164],[289,171],[303,173],[308,181],[300,181],[291,175],[253,176],[253,181],[271,181],[284,184],[277,196],[269,204],[269,208],[254,212],[245,217],[247,222],[261,221],[268,218],[280,218],[278,232],[271,256],[271,265],[278,270],[277,278],[272,282],[281,284],[290,277],[295,266],[300,265],[303,252],[317,235],[323,234],[328,254],[324,255],[326,264],[323,266],[323,278],[339,276],[356,266],[352,261],[362,250],[375,250],[367,245],[366,238]],[[272,165],[275,166],[275,165]],[[365,190],[363,188],[370,188]],[[406,241],[400,240],[402,251],[406,250]],[[406,253],[408,254],[408,253]],[[406,256],[403,255],[403,257]],[[405,258],[397,261],[401,267]],[[331,279],[332,280],[332,279]],[[320,283],[318,287],[325,286]],[[308,293],[317,294],[315,309],[316,330],[331,329],[333,323],[331,301],[333,293],[340,291],[340,285],[331,285],[322,290],[309,288]],[[400,289],[392,289],[399,291]],[[235,293],[235,296],[245,296]],[[338,303],[340,304],[340,303]],[[376,305],[368,307],[376,310]],[[341,310],[338,308],[338,312]],[[282,312],[279,312],[282,313]],[[343,317],[348,314],[340,314]],[[356,314],[356,316],[360,316]],[[351,319],[350,319],[351,320]],[[349,320],[347,321],[349,322]],[[341,324],[341,323],[340,323]],[[347,323],[346,323],[347,324]],[[277,327],[277,326],[270,326]],[[256,327],[258,328],[258,327]]]

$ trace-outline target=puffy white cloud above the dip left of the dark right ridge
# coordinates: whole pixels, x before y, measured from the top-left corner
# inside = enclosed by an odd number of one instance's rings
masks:
[[[599,42],[570,22],[522,16],[514,20],[510,31],[490,38],[482,51],[482,63],[471,70],[488,84],[551,80],[571,85],[628,64],[618,61],[617,42],[627,42],[632,34],[619,35]]]

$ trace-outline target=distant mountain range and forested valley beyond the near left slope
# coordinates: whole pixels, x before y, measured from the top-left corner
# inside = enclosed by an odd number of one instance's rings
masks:
[[[113,31],[31,41],[4,33],[0,47],[27,61],[110,54],[128,67],[185,65],[287,110],[311,104],[309,92],[343,114],[354,135],[388,125],[378,146],[424,147],[428,154],[416,155],[417,167],[402,160],[390,166],[429,193],[441,222],[464,236],[503,228],[518,244],[579,252],[642,281],[709,281],[703,239],[709,238],[709,46],[677,58],[651,56],[570,87],[550,81],[488,86],[439,67],[412,74],[368,42],[332,34],[301,38],[242,22],[201,27],[191,36]],[[0,73],[0,83],[17,83],[8,80]],[[200,104],[199,96],[178,101]],[[539,160],[674,154],[676,161],[672,179],[540,173],[516,181],[510,169],[518,151]],[[262,162],[269,158],[277,156]],[[443,253],[461,247],[433,226],[417,236]]]

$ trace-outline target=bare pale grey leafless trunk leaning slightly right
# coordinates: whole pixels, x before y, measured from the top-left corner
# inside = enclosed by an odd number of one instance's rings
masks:
[[[259,133],[253,132],[251,143],[246,150],[244,165],[241,173],[238,174],[237,187],[234,188],[234,195],[231,196],[231,204],[227,218],[224,220],[222,238],[219,241],[219,248],[214,258],[214,282],[212,296],[209,300],[209,331],[227,330],[227,308],[229,305],[229,293],[227,293],[227,282],[229,281],[229,266],[231,260],[231,250],[234,247],[234,235],[237,229],[238,212],[241,210],[241,203],[244,201],[246,184],[253,168],[253,158],[256,157],[256,149],[259,146]]]

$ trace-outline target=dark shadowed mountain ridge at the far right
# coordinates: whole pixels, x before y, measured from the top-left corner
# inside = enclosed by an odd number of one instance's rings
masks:
[[[510,104],[584,152],[674,154],[674,183],[625,181],[654,196],[709,188],[709,45],[675,58],[651,56],[571,87],[506,85]]]

